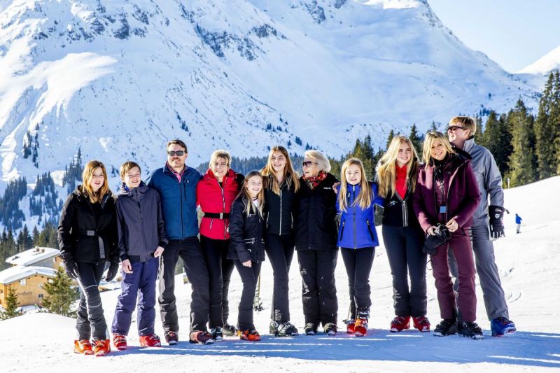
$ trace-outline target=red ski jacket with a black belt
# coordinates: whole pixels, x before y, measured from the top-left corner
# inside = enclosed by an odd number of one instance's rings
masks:
[[[210,239],[230,239],[229,214],[242,183],[243,175],[236,174],[232,169],[228,170],[228,174],[223,177],[222,186],[211,169],[208,169],[202,176],[197,184],[197,204],[200,205],[203,213],[212,215],[212,217],[202,217],[200,222],[202,236]],[[220,213],[227,215],[220,218],[218,216]]]

